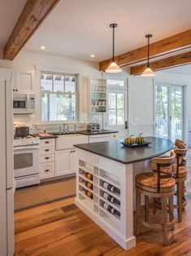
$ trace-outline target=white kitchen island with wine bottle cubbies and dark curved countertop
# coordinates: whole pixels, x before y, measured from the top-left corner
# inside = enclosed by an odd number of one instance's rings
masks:
[[[75,203],[124,249],[136,245],[134,177],[150,170],[153,157],[173,147],[170,139],[145,140],[150,145],[144,148],[126,148],[119,140],[75,145],[78,166]]]

